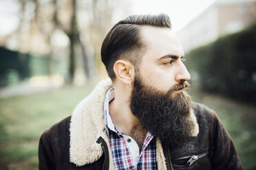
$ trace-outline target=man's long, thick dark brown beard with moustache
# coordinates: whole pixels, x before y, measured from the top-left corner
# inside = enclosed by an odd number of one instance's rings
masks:
[[[171,147],[189,141],[194,122],[191,120],[191,99],[184,92],[187,82],[180,82],[167,92],[145,85],[140,75],[134,78],[130,109],[145,130]]]

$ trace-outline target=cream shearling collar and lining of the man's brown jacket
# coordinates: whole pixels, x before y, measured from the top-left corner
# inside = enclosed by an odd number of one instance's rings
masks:
[[[102,80],[92,90],[85,99],[83,99],[74,109],[70,122],[70,162],[77,166],[87,165],[95,162],[103,155],[103,149],[96,143],[101,136],[108,145],[109,141],[105,132],[104,123],[104,99],[107,90],[113,86],[110,78]],[[191,136],[197,136],[199,132],[198,123],[195,114],[191,112],[190,119],[194,122],[194,129]],[[164,154],[160,140],[156,143],[156,159],[158,169],[166,169]],[[111,154],[109,162],[113,162]],[[109,169],[114,169],[113,163],[110,163]]]

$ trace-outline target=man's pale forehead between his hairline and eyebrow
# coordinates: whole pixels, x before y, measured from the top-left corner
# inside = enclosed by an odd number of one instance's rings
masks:
[[[174,32],[165,27],[141,27],[140,35],[146,44],[143,60],[157,60],[165,55],[184,56],[184,51]]]

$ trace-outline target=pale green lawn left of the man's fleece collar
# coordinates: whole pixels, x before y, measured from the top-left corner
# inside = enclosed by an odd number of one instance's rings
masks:
[[[46,93],[0,100],[0,170],[38,169],[44,130],[72,114],[93,86],[66,86]]]

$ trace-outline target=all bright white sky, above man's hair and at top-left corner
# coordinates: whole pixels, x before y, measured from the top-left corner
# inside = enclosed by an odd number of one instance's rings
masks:
[[[17,0],[0,1],[0,35],[10,34],[19,25]],[[173,30],[178,31],[191,19],[204,11],[215,0],[128,0],[131,1],[129,14],[159,14],[166,13],[171,18]],[[122,10],[122,9],[120,9]],[[125,10],[125,9],[124,9]],[[120,21],[114,17],[114,23]]]

